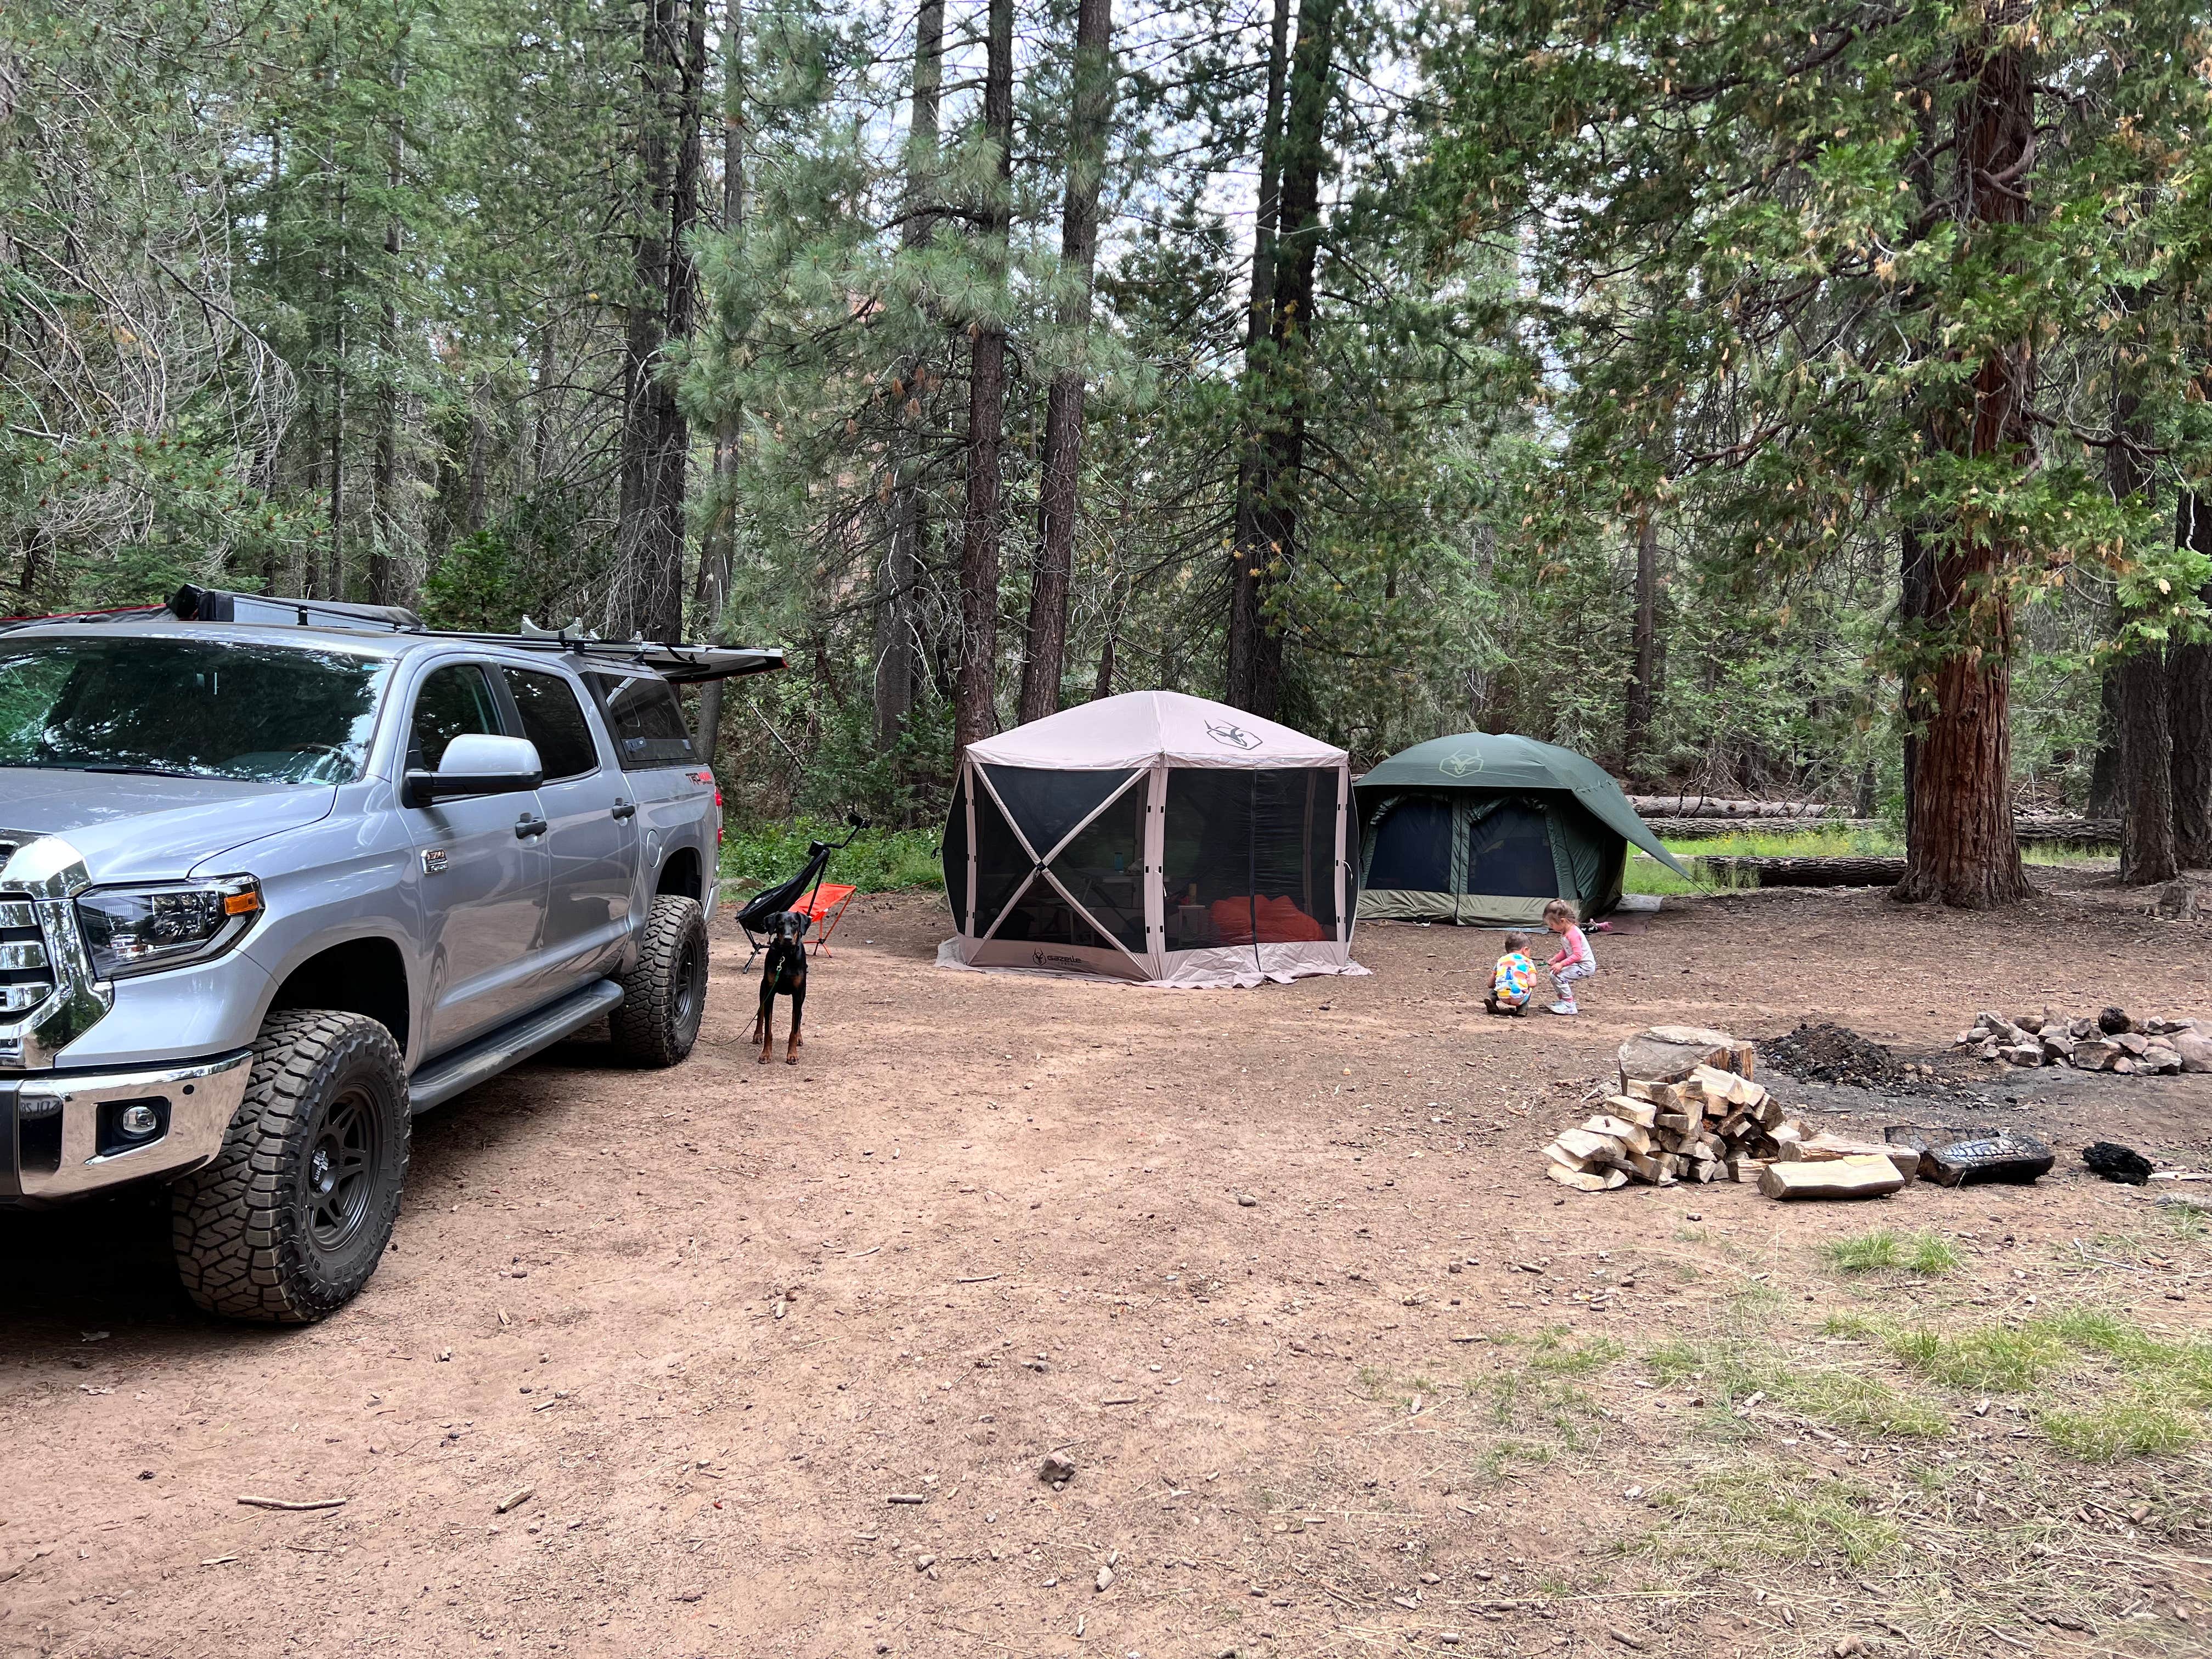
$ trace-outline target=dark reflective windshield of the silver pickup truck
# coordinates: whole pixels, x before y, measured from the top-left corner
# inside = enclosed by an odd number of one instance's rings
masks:
[[[303,646],[0,641],[0,765],[347,783],[387,670]]]

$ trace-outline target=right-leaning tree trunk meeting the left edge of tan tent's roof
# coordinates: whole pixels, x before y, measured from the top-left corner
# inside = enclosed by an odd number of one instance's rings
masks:
[[[1060,210],[1060,327],[1077,345],[1091,332],[1091,268],[1099,246],[1099,175],[1113,122],[1113,0],[1077,0],[1075,111],[1068,122],[1068,186]],[[1022,657],[1022,719],[1060,708],[1068,653],[1068,584],[1075,577],[1075,502],[1084,456],[1084,372],[1053,374],[1044,403],[1044,480],[1037,557],[1029,582],[1029,648]]]

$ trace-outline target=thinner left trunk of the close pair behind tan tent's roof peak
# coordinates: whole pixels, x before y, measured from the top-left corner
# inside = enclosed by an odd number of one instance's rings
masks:
[[[1252,296],[1245,305],[1243,442],[1237,449],[1237,522],[1230,531],[1230,615],[1223,695],[1239,708],[1261,697],[1261,635],[1272,551],[1261,522],[1267,495],[1267,405],[1274,394],[1274,252],[1283,223],[1283,82],[1290,73],[1290,0],[1274,0],[1267,31],[1267,106],[1259,131],[1259,197],[1252,212]]]

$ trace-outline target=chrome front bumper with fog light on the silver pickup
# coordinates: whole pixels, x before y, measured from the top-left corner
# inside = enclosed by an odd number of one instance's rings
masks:
[[[0,1075],[0,1206],[175,1177],[223,1146],[252,1051],[159,1071]]]

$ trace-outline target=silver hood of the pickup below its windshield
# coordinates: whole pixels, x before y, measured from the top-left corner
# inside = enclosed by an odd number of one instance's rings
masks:
[[[0,832],[62,836],[95,883],[177,880],[248,841],[330,816],[327,783],[0,768]]]

